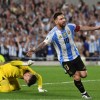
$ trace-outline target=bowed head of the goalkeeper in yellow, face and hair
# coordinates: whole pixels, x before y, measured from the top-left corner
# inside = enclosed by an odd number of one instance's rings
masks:
[[[31,85],[34,85],[37,81],[36,75],[32,75],[30,72],[25,72],[23,75],[23,78],[26,82],[26,84],[30,87]]]

